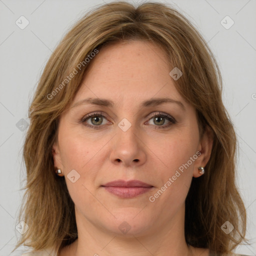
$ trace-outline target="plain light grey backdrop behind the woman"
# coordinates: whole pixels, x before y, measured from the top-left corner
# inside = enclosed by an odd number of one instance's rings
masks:
[[[37,81],[67,29],[104,2],[109,1],[0,0],[0,256],[19,255],[22,249],[10,254],[19,236],[15,226],[25,178],[22,143]],[[256,0],[160,2],[172,3],[191,20],[218,61],[223,101],[238,138],[237,184],[247,210],[251,243],[240,245],[236,252],[255,255]],[[29,22],[23,29],[15,23],[20,16],[25,17],[23,25]]]

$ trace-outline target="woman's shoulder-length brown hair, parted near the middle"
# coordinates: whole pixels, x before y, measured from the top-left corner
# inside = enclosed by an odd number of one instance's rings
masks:
[[[15,248],[24,243],[33,250],[61,249],[77,238],[74,204],[64,179],[54,173],[51,148],[59,116],[89,65],[84,63],[86,56],[124,40],[151,41],[166,52],[170,65],[183,72],[175,86],[195,107],[200,134],[205,127],[213,132],[206,172],[192,179],[185,200],[185,239],[212,253],[228,253],[245,240],[246,215],[235,185],[236,136],[222,103],[216,60],[194,26],[172,7],[156,2],[135,7],[124,1],[97,6],[81,18],[56,47],[40,77],[23,147],[27,178],[19,221],[29,229]],[[79,70],[78,63],[83,63]],[[65,80],[74,69],[77,73]],[[226,220],[234,226],[229,234],[220,228]]]

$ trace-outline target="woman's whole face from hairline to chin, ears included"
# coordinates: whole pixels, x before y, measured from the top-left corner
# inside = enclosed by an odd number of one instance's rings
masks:
[[[65,176],[78,229],[142,235],[184,221],[191,178],[200,175],[210,149],[167,63],[152,43],[108,45],[91,60],[61,115],[54,165]],[[104,186],[116,180],[147,186]]]

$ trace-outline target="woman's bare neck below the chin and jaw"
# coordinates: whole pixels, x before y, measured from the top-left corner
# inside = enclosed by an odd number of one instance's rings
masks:
[[[190,256],[192,251],[184,237],[184,206],[171,220],[159,220],[141,233],[113,232],[76,213],[78,238],[65,249],[72,256]],[[128,235],[129,233],[129,235]],[[60,253],[65,256],[65,253]]]

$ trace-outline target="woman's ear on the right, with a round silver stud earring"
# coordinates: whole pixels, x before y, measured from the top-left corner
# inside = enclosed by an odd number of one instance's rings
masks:
[[[199,173],[198,167],[205,166],[210,158],[210,153],[213,144],[213,132],[210,127],[207,125],[205,131],[201,137],[201,140],[198,144],[197,151],[200,152],[198,158],[195,161],[194,169],[193,169],[193,177],[199,177],[201,174]],[[207,171],[207,170],[205,170]]]

